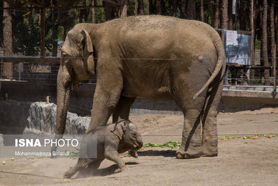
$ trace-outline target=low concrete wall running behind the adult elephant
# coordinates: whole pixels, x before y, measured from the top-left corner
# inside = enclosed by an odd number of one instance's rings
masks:
[[[90,115],[93,103],[95,84],[80,84],[71,94],[69,111],[78,115]],[[278,106],[278,99],[272,97],[272,87],[226,86],[222,94],[219,110],[235,112],[254,110],[263,107]],[[0,100],[45,101],[50,96],[50,102],[57,103],[56,85],[39,83],[2,82]],[[1,106],[0,106],[1,107]],[[133,113],[165,113],[180,112],[175,101],[153,101],[136,99],[131,106]]]

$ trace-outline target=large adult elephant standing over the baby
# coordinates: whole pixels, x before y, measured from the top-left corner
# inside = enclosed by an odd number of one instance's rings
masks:
[[[158,15],[76,24],[61,55],[56,134],[64,134],[71,90],[96,77],[89,129],[111,114],[113,122],[128,120],[136,97],[174,99],[184,113],[177,158],[217,156],[226,62],[221,38],[208,24]]]

